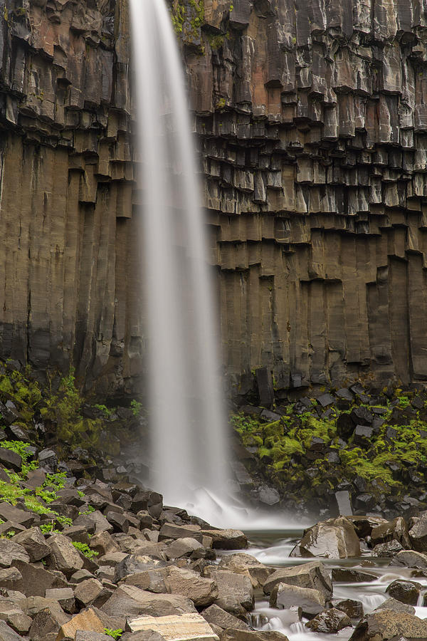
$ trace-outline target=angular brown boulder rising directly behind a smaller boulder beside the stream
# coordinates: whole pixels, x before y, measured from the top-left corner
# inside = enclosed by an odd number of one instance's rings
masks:
[[[332,596],[332,581],[321,561],[310,561],[310,563],[302,563],[300,566],[276,570],[264,583],[265,594],[270,594],[278,583],[319,590],[327,599]]]

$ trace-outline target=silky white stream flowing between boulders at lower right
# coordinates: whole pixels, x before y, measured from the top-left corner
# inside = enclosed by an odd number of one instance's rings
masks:
[[[302,537],[302,528],[287,530],[263,530],[246,531],[250,541],[247,550],[249,554],[264,563],[266,566],[280,568],[283,566],[295,566],[297,563],[307,563],[315,558],[290,558],[289,554],[295,543]],[[427,577],[414,575],[413,568],[401,568],[390,566],[391,559],[371,557],[369,553],[360,558],[327,559],[320,561],[330,570],[332,568],[354,568],[369,571],[377,576],[377,579],[370,583],[334,583],[332,603],[343,599],[354,599],[361,601],[364,613],[370,613],[383,603],[387,586],[396,579],[412,579],[421,583],[423,590],[418,600],[420,605],[416,606],[416,616],[421,619],[427,618],[427,607],[422,607],[424,593],[427,592]],[[418,574],[418,573],[417,573]],[[290,610],[278,610],[270,608],[268,598],[261,590],[255,593],[255,610],[252,613],[252,625],[258,630],[278,630],[287,635],[289,641],[348,641],[352,636],[354,627],[346,627],[344,630],[334,634],[323,634],[312,632],[305,627],[308,619],[302,618],[301,622],[292,622]]]

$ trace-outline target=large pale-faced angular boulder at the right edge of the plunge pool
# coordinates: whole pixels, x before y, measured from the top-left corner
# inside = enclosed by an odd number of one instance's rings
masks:
[[[325,558],[354,558],[360,556],[359,537],[345,516],[330,518],[308,528],[290,556]]]

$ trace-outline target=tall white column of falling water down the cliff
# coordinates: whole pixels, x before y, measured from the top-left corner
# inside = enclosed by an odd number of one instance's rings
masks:
[[[164,0],[130,0],[142,162],[152,485],[169,504],[223,496],[225,415],[181,58]],[[203,493],[202,493],[203,494]]]

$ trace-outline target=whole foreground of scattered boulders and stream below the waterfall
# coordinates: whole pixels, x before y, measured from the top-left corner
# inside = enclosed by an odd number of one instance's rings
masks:
[[[1,641],[427,638],[427,513],[339,516],[248,549],[137,483],[3,446]]]

